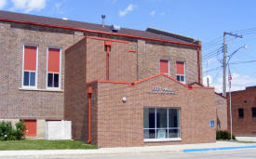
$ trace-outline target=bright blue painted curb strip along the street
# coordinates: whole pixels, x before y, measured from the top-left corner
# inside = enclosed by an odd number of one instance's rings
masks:
[[[221,148],[206,148],[206,149],[184,149],[183,152],[209,152],[209,151],[222,151],[222,150],[235,150],[235,149],[252,149],[256,148],[256,145],[252,146],[238,146],[238,147],[221,147]]]

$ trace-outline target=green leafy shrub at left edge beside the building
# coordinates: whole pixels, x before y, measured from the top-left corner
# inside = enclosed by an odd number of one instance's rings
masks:
[[[0,140],[20,140],[24,138],[24,131],[26,126],[24,123],[18,122],[16,128],[11,126],[10,122],[1,122],[0,123]]]

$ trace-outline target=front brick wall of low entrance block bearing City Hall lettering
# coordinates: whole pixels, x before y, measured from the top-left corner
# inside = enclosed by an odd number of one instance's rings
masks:
[[[169,86],[178,94],[147,94],[152,86]],[[97,92],[100,147],[215,142],[216,127],[209,127],[210,120],[216,123],[213,89],[188,90],[159,76],[135,87],[99,83]],[[127,97],[126,103],[122,102],[123,97]],[[181,108],[182,141],[144,142],[143,107]]]

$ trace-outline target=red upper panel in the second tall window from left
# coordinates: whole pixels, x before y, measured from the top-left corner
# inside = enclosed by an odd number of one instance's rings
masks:
[[[48,72],[60,73],[60,48],[48,48]]]

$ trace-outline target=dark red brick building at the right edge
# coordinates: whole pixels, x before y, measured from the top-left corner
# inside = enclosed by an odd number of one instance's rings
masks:
[[[232,130],[235,136],[256,136],[256,86],[231,92]],[[229,93],[227,93],[228,129],[230,130]]]

